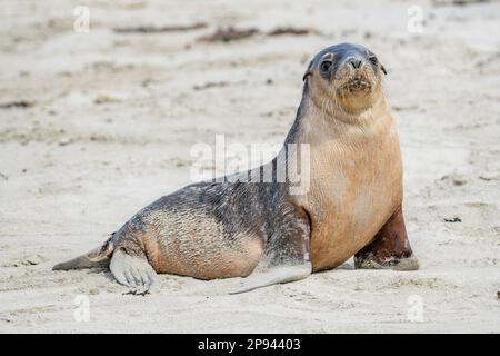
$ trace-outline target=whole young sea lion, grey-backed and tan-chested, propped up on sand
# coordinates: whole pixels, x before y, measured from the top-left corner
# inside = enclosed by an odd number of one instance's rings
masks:
[[[296,120],[272,161],[164,196],[102,247],[53,269],[109,265],[133,293],[148,291],[157,273],[247,277],[234,290],[247,291],[306,278],[351,256],[357,268],[418,269],[383,73],[362,46],[323,49],[308,66]],[[291,194],[290,179],[278,179],[283,162],[297,174],[289,145],[309,147],[309,155],[297,155],[309,164],[309,189],[300,194]],[[270,181],[259,179],[269,170]]]

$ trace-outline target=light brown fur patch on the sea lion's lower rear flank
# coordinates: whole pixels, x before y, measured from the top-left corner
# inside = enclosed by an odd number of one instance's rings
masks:
[[[144,222],[152,228],[138,238],[157,273],[199,279],[246,277],[263,253],[257,236],[237,236],[228,244],[221,224],[196,211],[191,216],[154,211]]]

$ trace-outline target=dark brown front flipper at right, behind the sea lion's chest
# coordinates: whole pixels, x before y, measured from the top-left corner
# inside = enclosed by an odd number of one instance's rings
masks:
[[[413,256],[401,206],[383,225],[374,239],[354,255],[356,268],[416,270],[419,261]]]

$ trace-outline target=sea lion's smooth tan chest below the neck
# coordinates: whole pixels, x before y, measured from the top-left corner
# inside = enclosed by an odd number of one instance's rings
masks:
[[[392,119],[311,140],[310,188],[314,270],[334,268],[368,245],[402,200],[402,164]]]

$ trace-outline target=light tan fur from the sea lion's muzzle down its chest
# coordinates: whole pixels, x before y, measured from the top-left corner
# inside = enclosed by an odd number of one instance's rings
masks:
[[[368,68],[362,75],[372,87],[350,96],[342,90],[349,67],[334,86],[308,79],[298,141],[311,145],[311,181],[296,204],[311,217],[313,270],[334,268],[367,246],[402,202],[401,152],[381,78]]]

